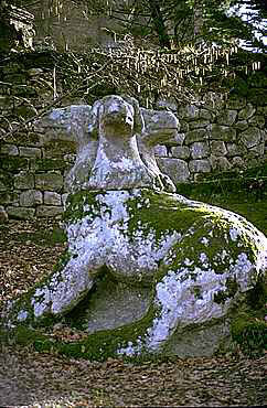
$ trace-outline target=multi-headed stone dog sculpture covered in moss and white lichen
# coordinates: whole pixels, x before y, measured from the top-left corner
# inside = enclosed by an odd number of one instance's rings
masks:
[[[266,237],[239,215],[174,193],[152,152],[178,132],[173,114],[107,96],[92,108],[56,109],[51,120],[77,138],[68,248],[55,271],[10,305],[8,325],[71,316],[88,333],[88,356],[216,352],[264,278]]]

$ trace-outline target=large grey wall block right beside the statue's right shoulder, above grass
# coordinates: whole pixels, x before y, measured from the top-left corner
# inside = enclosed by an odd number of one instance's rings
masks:
[[[190,172],[185,161],[171,158],[159,158],[157,161],[162,173],[168,174],[174,184],[189,181]]]

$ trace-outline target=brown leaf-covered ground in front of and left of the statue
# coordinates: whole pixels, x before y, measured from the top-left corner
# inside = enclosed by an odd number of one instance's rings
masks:
[[[47,273],[65,248],[54,222],[0,226],[0,308]],[[74,335],[71,333],[70,335]],[[105,363],[1,345],[1,407],[263,406],[267,356]]]

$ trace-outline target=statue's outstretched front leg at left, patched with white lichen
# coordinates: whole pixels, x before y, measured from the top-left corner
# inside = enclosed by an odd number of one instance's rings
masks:
[[[66,253],[60,261],[66,262],[35,286],[24,297],[14,301],[8,311],[8,324],[39,324],[45,319],[60,318],[72,310],[90,290],[100,267],[92,268],[88,254],[70,257]]]

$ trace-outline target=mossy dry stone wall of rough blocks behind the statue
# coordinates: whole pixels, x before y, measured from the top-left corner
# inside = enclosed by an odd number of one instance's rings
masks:
[[[15,115],[31,117],[35,107],[53,99],[50,68],[7,63],[0,80],[0,129],[7,130]],[[265,103],[247,97],[225,100],[214,93],[199,106],[159,101],[158,108],[172,110],[181,122],[178,138],[156,148],[159,167],[179,184],[259,165],[266,159]],[[75,140],[58,129],[30,129],[6,138],[0,149],[0,219],[61,216]]]

